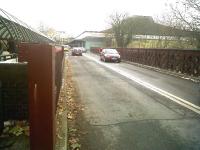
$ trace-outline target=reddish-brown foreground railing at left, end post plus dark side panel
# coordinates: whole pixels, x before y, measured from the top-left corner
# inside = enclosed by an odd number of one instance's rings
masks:
[[[31,150],[54,150],[64,48],[21,43],[18,60],[0,64],[0,132],[6,120],[29,119]]]

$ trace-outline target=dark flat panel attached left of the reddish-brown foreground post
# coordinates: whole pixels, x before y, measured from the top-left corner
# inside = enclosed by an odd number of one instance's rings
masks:
[[[27,64],[0,63],[0,131],[7,120],[28,120]]]

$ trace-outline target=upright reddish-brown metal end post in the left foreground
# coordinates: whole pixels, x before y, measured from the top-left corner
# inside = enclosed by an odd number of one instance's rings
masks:
[[[55,52],[44,44],[19,45],[19,61],[28,62],[30,147],[55,149]]]

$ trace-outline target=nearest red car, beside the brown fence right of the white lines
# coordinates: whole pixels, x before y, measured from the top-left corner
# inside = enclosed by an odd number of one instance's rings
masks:
[[[101,61],[121,62],[121,56],[116,49],[103,49],[100,53]]]

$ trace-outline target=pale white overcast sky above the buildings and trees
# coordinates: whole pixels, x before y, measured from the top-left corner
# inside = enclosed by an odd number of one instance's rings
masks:
[[[33,28],[39,24],[76,36],[85,30],[109,27],[115,12],[158,16],[173,0],[2,0],[0,7]]]

